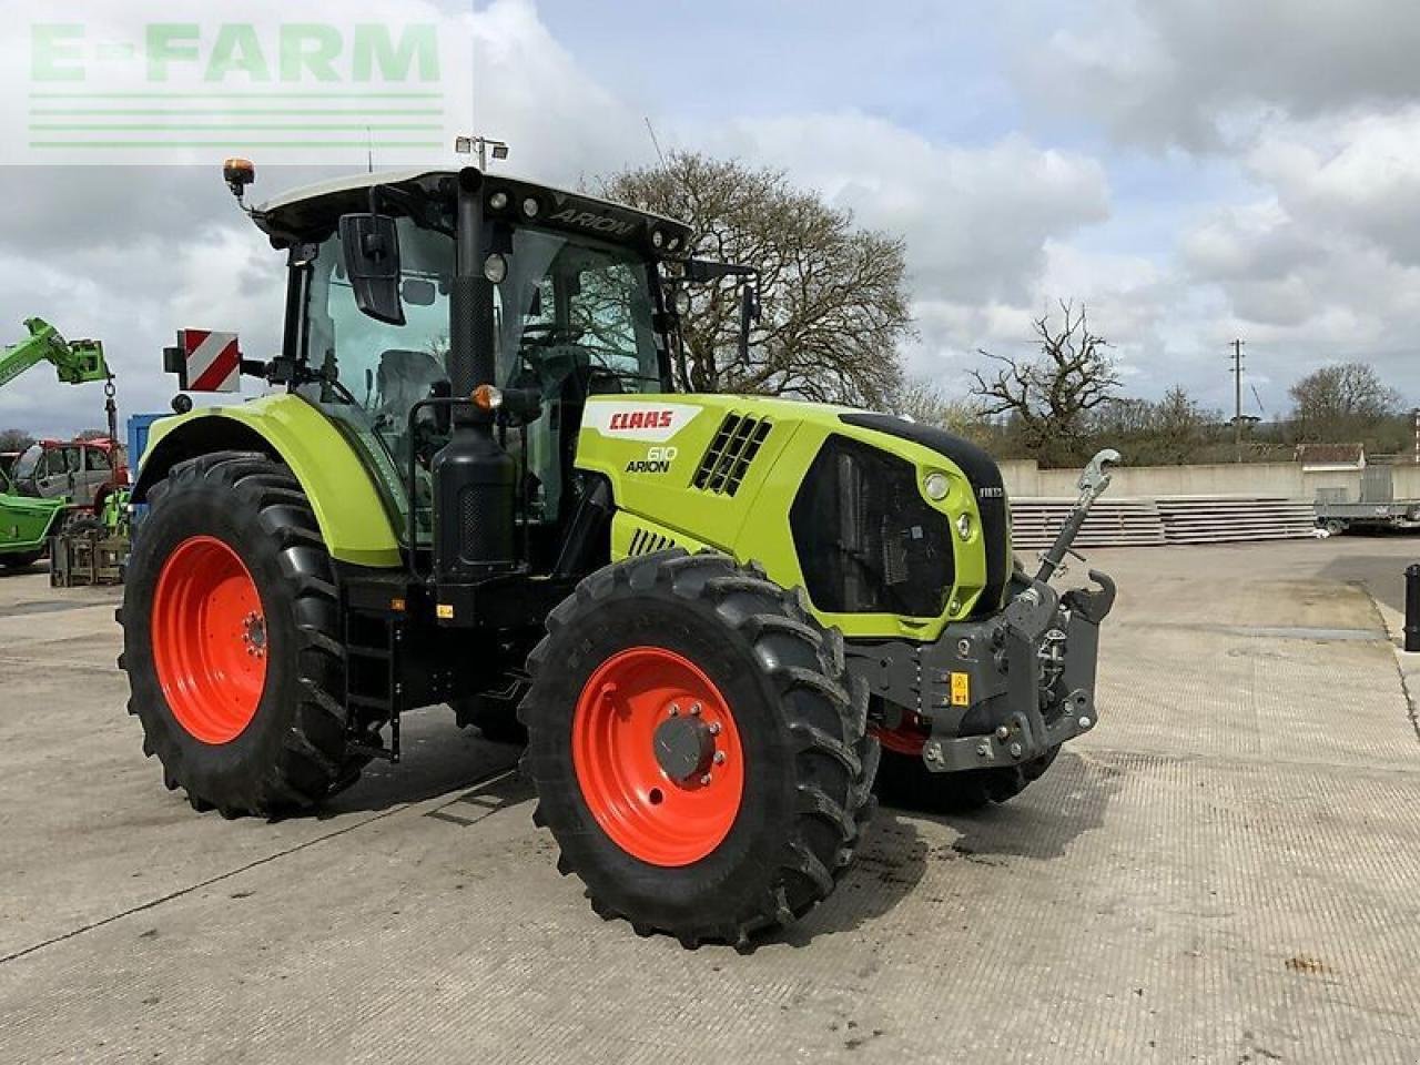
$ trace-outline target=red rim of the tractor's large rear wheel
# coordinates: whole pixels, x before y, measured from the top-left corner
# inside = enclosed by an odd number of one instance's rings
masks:
[[[251,724],[266,687],[261,596],[237,552],[189,537],[163,562],[153,592],[153,666],[178,724],[210,744]]]

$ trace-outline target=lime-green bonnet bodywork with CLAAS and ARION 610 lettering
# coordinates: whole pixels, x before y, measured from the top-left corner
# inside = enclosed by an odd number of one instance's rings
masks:
[[[642,412],[636,416],[636,412]],[[693,484],[696,470],[727,415],[770,423],[758,454],[734,494]],[[953,523],[970,514],[971,532],[954,532],[956,585],[937,618],[888,613],[831,613],[814,606],[825,625],[845,636],[937,639],[943,628],[966,618],[987,582],[985,547],[976,494],[954,463],[937,452],[896,436],[846,425],[846,408],[754,396],[594,396],[578,439],[578,467],[605,474],[616,500],[612,557],[655,551],[672,541],[689,550],[713,547],[741,562],[760,562],[772,581],[804,588],[804,574],[790,530],[790,508],[819,447],[831,435],[861,440],[912,463],[917,484],[944,473],[950,491],[929,504]],[[653,425],[643,425],[646,420]],[[643,530],[636,540],[638,530]]]

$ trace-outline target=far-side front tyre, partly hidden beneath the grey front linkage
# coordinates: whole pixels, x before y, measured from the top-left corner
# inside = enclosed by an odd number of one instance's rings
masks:
[[[1056,746],[1021,765],[932,772],[922,761],[922,738],[900,731],[880,738],[883,760],[878,772],[878,797],[889,807],[924,814],[966,814],[991,802],[1007,802],[1039,780],[1059,754]]]

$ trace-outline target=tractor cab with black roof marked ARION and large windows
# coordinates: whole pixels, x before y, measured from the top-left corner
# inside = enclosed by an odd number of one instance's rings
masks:
[[[551,565],[588,399],[672,390],[689,229],[473,169],[328,182],[253,219],[290,253],[280,373],[383,471],[406,542],[433,537],[435,454],[483,425],[527,561]]]

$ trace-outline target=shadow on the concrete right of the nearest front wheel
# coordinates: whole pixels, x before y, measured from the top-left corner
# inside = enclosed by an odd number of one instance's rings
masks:
[[[919,889],[930,863],[1008,868],[1062,858],[1075,839],[1105,824],[1122,775],[1113,765],[1066,750],[1049,772],[1001,805],[964,814],[880,807],[863,849],[834,895],[802,922],[765,937],[763,946],[807,947],[819,936],[872,924]],[[947,841],[932,826],[950,829],[956,838]]]

